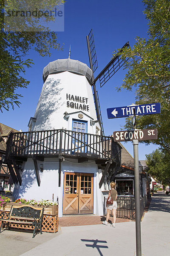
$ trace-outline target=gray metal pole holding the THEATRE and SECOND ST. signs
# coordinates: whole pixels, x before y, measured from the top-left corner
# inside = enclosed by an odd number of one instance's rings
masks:
[[[133,109],[133,129],[136,129],[135,109]],[[134,168],[135,168],[136,256],[142,256],[138,145],[139,145],[139,141],[133,140],[133,154],[134,154]]]

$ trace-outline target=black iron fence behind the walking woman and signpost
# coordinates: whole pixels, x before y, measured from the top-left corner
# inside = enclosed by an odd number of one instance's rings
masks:
[[[107,198],[104,197],[103,202],[103,214],[107,214],[106,208]],[[135,198],[134,197],[117,197],[117,211],[116,217],[118,218],[128,218],[135,220]],[[144,212],[144,207],[147,204],[147,196],[140,198],[140,209],[141,209],[141,218]]]

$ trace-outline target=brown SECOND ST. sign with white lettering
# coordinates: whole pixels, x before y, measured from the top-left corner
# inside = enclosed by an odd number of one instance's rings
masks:
[[[132,131],[114,131],[114,141],[132,141],[132,140],[156,140],[157,129],[144,129]]]

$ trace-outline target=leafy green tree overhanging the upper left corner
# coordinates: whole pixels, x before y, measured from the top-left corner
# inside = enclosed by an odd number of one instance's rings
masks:
[[[33,60],[26,59],[26,55],[30,49],[37,51],[40,56],[50,56],[51,48],[62,50],[62,47],[57,40],[57,33],[51,32],[50,29],[42,26],[37,17],[28,17],[23,22],[23,19],[4,20],[8,10],[17,8],[25,8],[31,6],[36,9],[40,8],[53,9],[55,6],[64,3],[63,0],[7,0],[4,6],[4,0],[0,0],[0,111],[3,109],[9,110],[10,107],[20,105],[19,99],[22,95],[17,94],[17,88],[27,87],[29,81],[23,77],[26,68],[32,66]],[[37,4],[37,5],[36,5]],[[8,9],[6,9],[8,8]],[[54,20],[54,17],[44,17],[44,22]],[[22,25],[22,26],[21,26]],[[15,32],[17,31],[17,32]]]

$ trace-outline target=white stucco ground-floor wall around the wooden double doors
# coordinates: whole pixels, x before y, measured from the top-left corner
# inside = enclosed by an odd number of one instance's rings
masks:
[[[40,165],[38,161],[38,166]],[[103,214],[103,196],[101,189],[99,189],[99,172],[95,162],[89,163],[74,163],[71,160],[62,162],[61,170],[61,186],[58,186],[58,167],[59,162],[57,158],[46,158],[43,162],[43,172],[40,172],[40,187],[37,185],[34,163],[32,159],[28,159],[22,172],[22,185],[15,185],[14,198],[26,198],[36,200],[52,200],[54,194],[54,201],[59,198],[59,217],[62,217],[63,204],[63,183],[64,172],[81,172],[94,174],[94,214]]]

